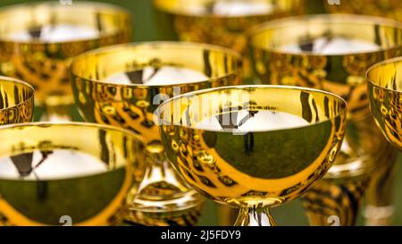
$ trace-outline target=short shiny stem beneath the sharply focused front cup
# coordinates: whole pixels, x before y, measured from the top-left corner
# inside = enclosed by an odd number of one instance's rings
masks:
[[[268,206],[241,207],[235,226],[275,226]]]

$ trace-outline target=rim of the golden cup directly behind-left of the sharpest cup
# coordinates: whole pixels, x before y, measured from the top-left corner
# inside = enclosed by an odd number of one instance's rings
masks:
[[[121,51],[126,48],[136,48],[136,47],[141,47],[145,46],[149,49],[153,49],[156,46],[161,46],[160,49],[166,48],[167,46],[171,47],[177,47],[181,48],[183,46],[192,48],[192,49],[199,49],[202,50],[207,49],[210,51],[218,51],[222,52],[227,55],[233,56],[237,60],[237,67],[233,72],[228,72],[225,75],[219,76],[219,77],[214,77],[214,78],[208,78],[207,80],[199,80],[199,81],[189,81],[189,82],[182,82],[182,83],[172,83],[172,84],[157,84],[157,85],[147,85],[147,84],[121,84],[119,82],[110,82],[106,80],[101,80],[101,79],[88,79],[87,77],[84,77],[83,75],[78,74],[78,72],[75,72],[75,66],[78,66],[77,63],[82,62],[81,60],[85,60],[86,57],[92,56],[92,55],[100,55],[100,54],[106,54],[109,52],[113,51]],[[166,46],[166,47],[163,47]],[[130,43],[123,43],[123,44],[118,44],[118,45],[113,45],[113,46],[104,46],[100,48],[96,48],[93,50],[89,50],[88,52],[82,53],[80,55],[77,55],[73,58],[71,65],[70,65],[70,72],[71,75],[74,77],[78,77],[82,80],[88,80],[90,82],[95,82],[98,84],[103,84],[103,85],[110,85],[113,87],[119,87],[119,88],[169,88],[169,87],[186,87],[194,84],[204,84],[204,83],[211,83],[214,80],[222,80],[224,78],[230,77],[230,76],[239,76],[242,72],[243,65],[242,65],[242,56],[227,47],[224,46],[217,46],[217,45],[212,45],[212,44],[205,44],[205,43],[200,43],[200,42],[185,42],[185,41],[144,41],[144,42],[130,42]]]

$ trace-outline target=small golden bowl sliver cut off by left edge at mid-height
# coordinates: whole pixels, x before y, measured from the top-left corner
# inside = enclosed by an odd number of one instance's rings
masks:
[[[0,76],[0,125],[31,122],[34,93],[28,83]]]

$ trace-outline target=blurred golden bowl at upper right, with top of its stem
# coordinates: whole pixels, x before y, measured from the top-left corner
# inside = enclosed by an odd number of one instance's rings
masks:
[[[285,38],[286,37],[286,38]],[[368,51],[322,54],[314,39],[335,38],[378,46]],[[327,43],[328,44],[328,43]],[[295,45],[299,52],[283,47]],[[364,73],[373,63],[401,55],[402,25],[382,18],[348,15],[307,15],[269,21],[250,31],[255,75],[263,83],[320,88],[348,101],[349,114],[368,113]]]

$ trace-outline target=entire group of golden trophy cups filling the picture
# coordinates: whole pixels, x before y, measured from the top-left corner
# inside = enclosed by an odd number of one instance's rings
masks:
[[[110,4],[0,9],[0,224],[194,225],[206,197],[234,207],[221,224],[272,225],[300,196],[312,225],[355,224],[364,196],[367,223],[390,224],[402,59],[379,62],[402,55],[402,23],[289,17],[302,0],[154,5],[192,43],[124,44],[130,13]],[[68,122],[74,101],[91,123]]]

